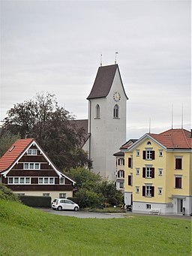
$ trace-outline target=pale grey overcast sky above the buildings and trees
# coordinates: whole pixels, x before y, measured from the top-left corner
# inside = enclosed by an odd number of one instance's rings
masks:
[[[53,92],[88,118],[100,66],[115,51],[127,101],[127,140],[190,129],[190,1],[1,0],[1,120],[13,104]],[[173,112],[172,112],[173,106]],[[173,114],[172,114],[173,113]]]

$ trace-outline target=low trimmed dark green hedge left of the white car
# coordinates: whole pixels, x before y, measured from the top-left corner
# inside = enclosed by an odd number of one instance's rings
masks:
[[[51,197],[37,197],[28,195],[20,195],[19,197],[22,203],[26,204],[27,206],[44,208],[51,207]]]

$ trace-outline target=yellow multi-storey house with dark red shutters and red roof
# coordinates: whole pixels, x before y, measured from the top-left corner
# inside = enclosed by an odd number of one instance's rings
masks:
[[[133,212],[192,213],[191,132],[145,134],[124,152],[124,203]]]

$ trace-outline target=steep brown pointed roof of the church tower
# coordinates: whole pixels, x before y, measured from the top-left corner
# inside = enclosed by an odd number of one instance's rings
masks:
[[[107,97],[108,93],[110,92],[111,86],[113,84],[115,72],[117,69],[118,69],[117,64],[98,68],[98,74],[95,78],[95,83],[92,87],[92,91],[90,92],[87,100],[92,98]],[[119,72],[119,69],[118,69],[118,72]],[[120,72],[119,72],[119,75],[120,75]],[[120,75],[120,78],[121,78],[121,75]],[[122,80],[121,80],[121,83],[122,83]]]

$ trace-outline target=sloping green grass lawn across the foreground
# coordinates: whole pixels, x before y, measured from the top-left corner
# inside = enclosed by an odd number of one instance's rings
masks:
[[[191,255],[191,223],[153,216],[75,218],[0,200],[0,255]]]

